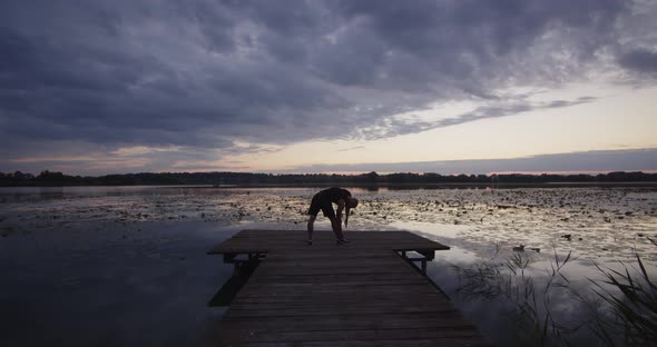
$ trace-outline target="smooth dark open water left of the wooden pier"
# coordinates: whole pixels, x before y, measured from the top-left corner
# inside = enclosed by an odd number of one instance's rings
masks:
[[[223,314],[207,299],[232,272],[205,250],[235,231],[178,222],[7,238],[2,346],[199,345]]]

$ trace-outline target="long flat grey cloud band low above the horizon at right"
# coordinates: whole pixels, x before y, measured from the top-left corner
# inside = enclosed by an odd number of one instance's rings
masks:
[[[605,172],[620,170],[657,170],[657,148],[600,150],[540,155],[523,158],[444,160],[420,162],[374,162],[344,165],[312,165],[281,172]]]

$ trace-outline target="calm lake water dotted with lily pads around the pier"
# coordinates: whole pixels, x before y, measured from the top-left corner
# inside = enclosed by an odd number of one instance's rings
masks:
[[[305,211],[317,190],[0,188],[0,345],[200,345],[224,313],[206,303],[233,270],[206,250],[246,228],[305,238]],[[452,247],[437,254],[429,275],[499,344],[527,344],[506,315],[513,301],[464,296],[454,266],[520,255],[540,285],[555,257],[571,252],[576,259],[562,274],[580,293],[600,278],[596,264],[631,267],[635,254],[657,274],[649,239],[657,238],[656,188],[350,190],[361,199],[350,230],[403,229]],[[324,218],[316,228],[330,232]],[[521,245],[524,251],[513,250]],[[551,296],[560,323],[586,319],[568,293]],[[590,338],[584,328],[568,337]]]

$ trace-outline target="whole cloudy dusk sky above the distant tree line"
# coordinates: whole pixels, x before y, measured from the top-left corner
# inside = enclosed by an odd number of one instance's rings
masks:
[[[0,2],[0,171],[657,170],[657,1]]]

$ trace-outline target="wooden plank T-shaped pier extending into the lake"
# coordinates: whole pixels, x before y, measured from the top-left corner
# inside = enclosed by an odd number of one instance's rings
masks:
[[[489,346],[425,276],[449,247],[406,231],[243,230],[208,254],[259,264],[209,346]],[[414,265],[419,264],[419,265]]]

